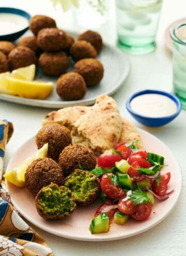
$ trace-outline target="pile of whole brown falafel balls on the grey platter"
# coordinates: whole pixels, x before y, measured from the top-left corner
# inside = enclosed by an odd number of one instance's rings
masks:
[[[99,33],[86,31],[75,41],[56,27],[54,19],[43,15],[34,16],[29,28],[34,36],[20,39],[17,47],[12,42],[0,41],[0,73],[38,61],[44,74],[60,76],[56,92],[63,100],[83,98],[87,86],[102,80],[103,65],[96,58],[103,46]],[[69,56],[75,62],[74,72],[65,74],[70,66]]]

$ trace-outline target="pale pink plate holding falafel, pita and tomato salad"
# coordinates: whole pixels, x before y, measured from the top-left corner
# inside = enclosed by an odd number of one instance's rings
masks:
[[[175,206],[181,191],[182,178],[178,162],[168,147],[150,133],[141,129],[139,129],[139,132],[142,135],[145,149],[148,152],[157,153],[165,157],[165,163],[168,164],[168,167],[165,167],[162,172],[171,172],[171,179],[168,187],[173,187],[175,190],[169,195],[169,198],[166,201],[156,201],[153,205],[151,216],[147,220],[135,221],[130,219],[123,226],[113,223],[108,233],[92,235],[88,228],[91,219],[94,217],[96,209],[101,205],[101,202],[96,201],[88,207],[78,207],[71,216],[63,220],[44,220],[36,211],[33,195],[26,188],[18,188],[7,182],[13,205],[25,219],[40,229],[58,236],[76,240],[116,240],[149,230],[165,219]],[[35,138],[33,137],[17,150],[8,164],[7,172],[18,165],[26,157],[36,152],[36,150]]]

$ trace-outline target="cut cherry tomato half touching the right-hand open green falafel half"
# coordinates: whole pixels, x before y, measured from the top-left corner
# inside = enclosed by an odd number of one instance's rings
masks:
[[[100,186],[108,198],[119,199],[125,194],[121,186],[114,186],[112,184],[112,181],[109,177],[102,177]]]

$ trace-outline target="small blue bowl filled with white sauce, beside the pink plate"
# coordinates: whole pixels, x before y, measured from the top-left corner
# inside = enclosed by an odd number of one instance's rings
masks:
[[[181,111],[181,102],[173,94],[145,90],[133,94],[126,102],[129,113],[139,123],[158,127],[168,124]]]

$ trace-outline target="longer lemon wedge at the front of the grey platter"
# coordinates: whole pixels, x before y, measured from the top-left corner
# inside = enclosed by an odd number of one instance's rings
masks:
[[[52,82],[26,81],[9,76],[5,80],[4,89],[8,94],[30,99],[45,99],[54,86]]]

